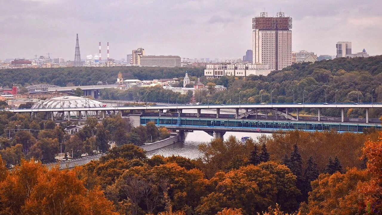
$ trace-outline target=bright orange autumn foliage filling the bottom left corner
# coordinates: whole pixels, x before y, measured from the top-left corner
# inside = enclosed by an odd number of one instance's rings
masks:
[[[8,171],[0,157],[0,214],[117,215],[113,210],[99,187],[86,189],[75,171],[34,160]]]

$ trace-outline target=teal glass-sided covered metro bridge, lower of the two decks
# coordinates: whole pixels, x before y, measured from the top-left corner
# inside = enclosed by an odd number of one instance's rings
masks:
[[[382,129],[380,123],[361,122],[318,122],[318,121],[291,121],[272,119],[227,119],[204,117],[166,117],[141,116],[140,124],[154,122],[158,127],[176,129],[177,132],[202,130],[214,138],[222,138],[225,132],[257,132],[272,133],[280,130],[327,131],[362,133],[364,129]]]

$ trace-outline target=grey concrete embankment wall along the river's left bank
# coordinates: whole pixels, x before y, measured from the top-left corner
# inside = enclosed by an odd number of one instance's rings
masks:
[[[179,142],[179,141],[181,141],[181,140],[179,140],[179,136],[175,135],[175,136],[168,137],[164,140],[156,141],[152,144],[140,146],[140,148],[142,148],[145,151],[152,151],[152,150],[166,147],[168,145],[174,144],[174,143]],[[47,166],[48,168],[52,168],[55,165],[59,165],[60,169],[71,169],[71,168],[74,168],[76,166],[85,165],[92,160],[99,160],[104,155],[106,155],[106,154],[103,153],[103,154],[99,154],[99,155],[86,156],[83,158],[75,158],[72,160],[47,163],[47,164],[45,164],[45,166]]]

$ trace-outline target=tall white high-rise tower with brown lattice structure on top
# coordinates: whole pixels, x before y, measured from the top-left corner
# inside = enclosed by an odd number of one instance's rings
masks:
[[[253,18],[253,63],[268,64],[271,71],[282,70],[292,64],[292,18],[284,13],[268,17],[262,12]]]

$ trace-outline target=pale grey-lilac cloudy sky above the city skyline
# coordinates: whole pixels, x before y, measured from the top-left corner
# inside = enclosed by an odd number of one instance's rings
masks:
[[[283,11],[293,18],[292,49],[335,55],[337,41],[382,54],[380,0],[0,0],[0,59],[34,55],[81,58],[106,42],[110,57],[241,57],[252,47],[251,18]]]

